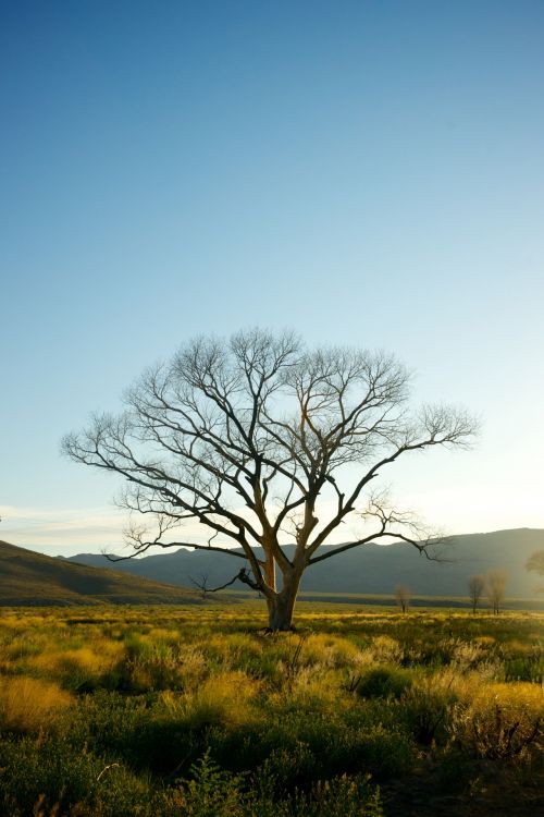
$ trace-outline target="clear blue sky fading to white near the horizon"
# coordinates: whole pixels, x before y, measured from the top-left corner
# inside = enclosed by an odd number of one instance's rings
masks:
[[[396,352],[483,418],[399,498],[544,527],[543,42],[540,0],[1,3],[0,538],[120,540],[61,436],[252,325]]]

